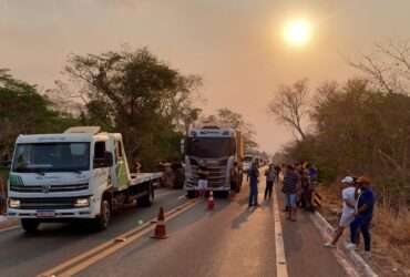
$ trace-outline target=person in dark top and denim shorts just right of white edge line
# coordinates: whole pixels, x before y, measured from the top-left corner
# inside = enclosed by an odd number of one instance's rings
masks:
[[[296,222],[296,194],[300,182],[299,175],[295,172],[293,165],[286,167],[284,177],[284,187],[281,188],[285,194],[286,208],[288,208],[288,217],[293,222]]]

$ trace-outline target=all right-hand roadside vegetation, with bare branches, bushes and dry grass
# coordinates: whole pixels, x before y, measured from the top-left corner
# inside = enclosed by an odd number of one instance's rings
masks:
[[[315,93],[306,81],[279,88],[270,111],[297,134],[279,156],[319,168],[328,184],[320,188],[322,213],[334,225],[338,177],[370,176],[377,195],[370,263],[380,276],[410,276],[410,40],[377,45],[350,65],[365,78],[325,82]]]

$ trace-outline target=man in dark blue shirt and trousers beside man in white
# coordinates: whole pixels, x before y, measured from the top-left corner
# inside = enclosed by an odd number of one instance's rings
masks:
[[[357,179],[358,188],[360,188],[360,195],[357,201],[357,208],[355,214],[355,219],[350,224],[350,244],[347,246],[350,249],[356,248],[357,233],[360,232],[365,240],[365,255],[370,258],[370,225],[373,217],[375,207],[375,194],[370,187],[370,179],[368,177],[361,176]]]

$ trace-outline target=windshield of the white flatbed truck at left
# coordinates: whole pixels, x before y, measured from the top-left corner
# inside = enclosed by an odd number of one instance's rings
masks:
[[[90,170],[90,143],[18,144],[13,172],[81,172]]]

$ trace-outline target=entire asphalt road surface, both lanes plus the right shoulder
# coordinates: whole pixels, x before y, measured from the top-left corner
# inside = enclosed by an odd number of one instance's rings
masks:
[[[260,183],[260,194],[264,188]],[[247,207],[248,187],[232,199],[205,202],[166,223],[168,238],[146,234],[110,256],[83,268],[78,276],[277,276],[274,205],[263,202]],[[110,228],[90,233],[81,225],[44,225],[35,236],[22,229],[0,232],[0,276],[35,276],[184,203],[182,191],[158,191],[151,208],[130,207],[112,218]],[[281,197],[279,194],[279,206]],[[290,277],[347,276],[309,219],[300,213],[297,223],[281,213],[283,242]],[[280,259],[278,259],[280,260]],[[283,276],[278,276],[283,277]]]

